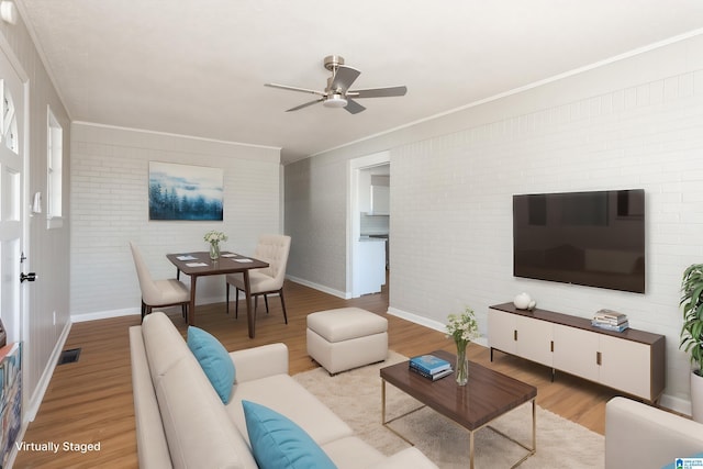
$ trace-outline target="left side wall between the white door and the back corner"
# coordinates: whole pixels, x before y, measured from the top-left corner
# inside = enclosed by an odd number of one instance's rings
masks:
[[[13,59],[19,75],[26,83],[29,126],[27,135],[21,136],[26,137],[26,156],[29,157],[25,192],[26,194],[35,192],[46,194],[48,107],[64,129],[63,183],[66,188],[70,168],[69,116],[21,16],[14,25],[0,21],[0,47]],[[63,202],[63,212],[69,215],[67,191],[64,192]],[[44,210],[46,210],[45,205]],[[27,416],[31,418],[38,407],[44,387],[51,378],[49,372],[53,370],[56,354],[60,351],[62,335],[68,333],[70,320],[69,228],[65,224],[60,228],[47,230],[46,217],[41,215],[29,220],[27,230],[27,244],[23,246],[27,259],[23,270],[36,272],[38,279],[33,283],[25,282],[21,287],[26,293],[22,351],[24,418]],[[56,321],[54,321],[54,313]]]

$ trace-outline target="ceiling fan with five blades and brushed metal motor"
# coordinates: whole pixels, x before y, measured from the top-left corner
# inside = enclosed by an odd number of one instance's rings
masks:
[[[306,88],[289,87],[288,85],[266,83],[265,86],[271,88],[280,88],[290,91],[300,91],[311,94],[317,94],[320,98],[306,102],[304,104],[297,105],[287,110],[298,111],[299,109],[308,108],[309,105],[322,102],[322,105],[326,108],[344,108],[352,114],[357,114],[364,111],[366,108],[355,101],[355,99],[361,98],[384,98],[404,96],[408,92],[406,87],[390,87],[390,88],[370,88],[365,90],[352,90],[349,89],[354,81],[361,75],[361,71],[356,68],[347,67],[344,65],[344,57],[338,55],[330,55],[324,59],[324,66],[327,70],[332,71],[332,76],[327,78],[327,87],[324,91],[310,90]]]

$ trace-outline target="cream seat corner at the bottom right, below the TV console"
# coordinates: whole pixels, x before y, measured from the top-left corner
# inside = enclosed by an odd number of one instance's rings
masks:
[[[605,469],[661,468],[703,451],[703,424],[641,402],[605,404]]]

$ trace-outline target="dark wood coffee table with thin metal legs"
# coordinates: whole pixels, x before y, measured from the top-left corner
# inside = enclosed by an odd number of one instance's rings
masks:
[[[456,362],[456,357],[445,350],[431,353],[434,356]],[[386,383],[390,383],[406,394],[415,398],[423,405],[390,421],[386,420]],[[532,447],[520,443],[502,432],[490,427],[493,432],[527,449],[520,466],[537,450],[535,398],[537,389],[514,378],[493,371],[473,361],[469,361],[469,382],[458,386],[454,375],[432,381],[409,369],[408,361],[381,369],[381,422],[391,432],[413,445],[411,440],[389,426],[391,422],[402,418],[424,406],[453,420],[469,431],[469,461],[473,468],[473,435],[488,426],[493,420],[526,402],[532,402]]]

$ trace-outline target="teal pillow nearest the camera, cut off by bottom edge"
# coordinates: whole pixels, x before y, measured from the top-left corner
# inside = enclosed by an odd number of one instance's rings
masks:
[[[261,404],[242,401],[254,459],[260,469],[336,469],[294,422]]]

